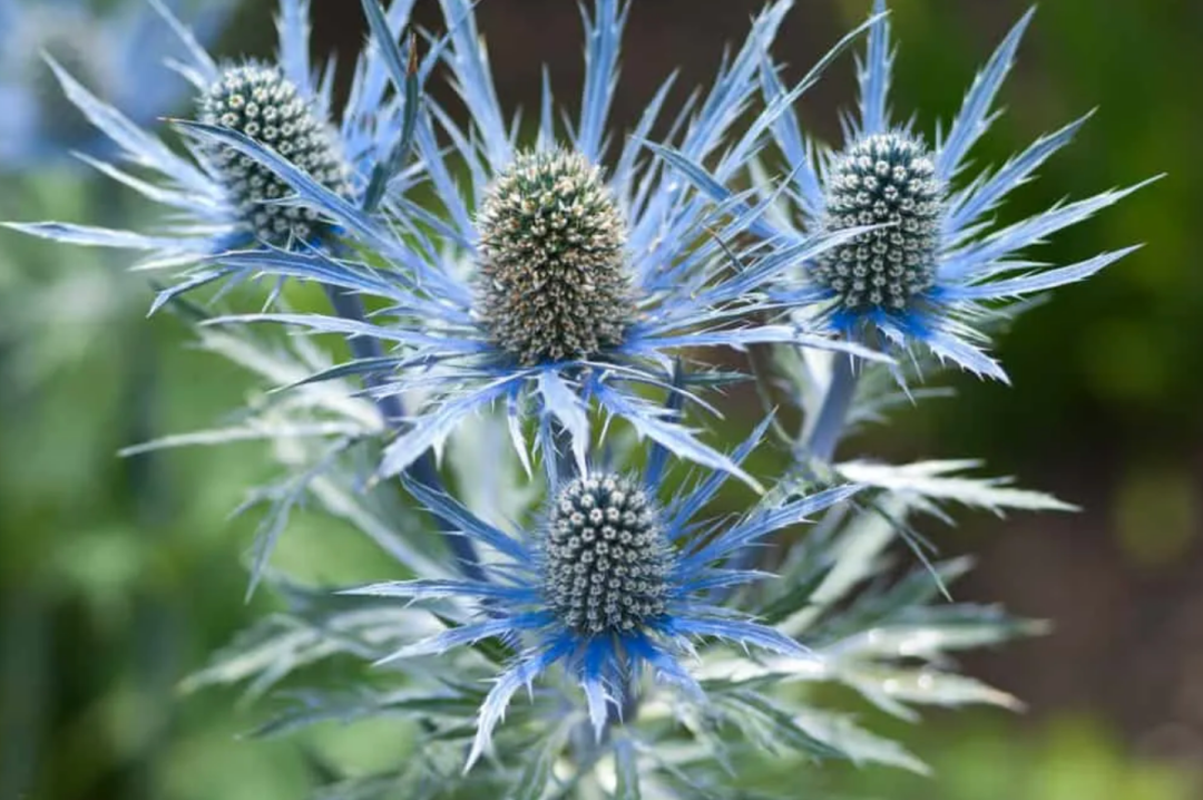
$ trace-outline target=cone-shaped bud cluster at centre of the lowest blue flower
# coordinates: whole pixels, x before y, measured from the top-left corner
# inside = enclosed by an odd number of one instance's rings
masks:
[[[544,591],[569,628],[622,633],[665,611],[671,553],[658,510],[634,481],[574,480],[556,498],[544,543]]]

